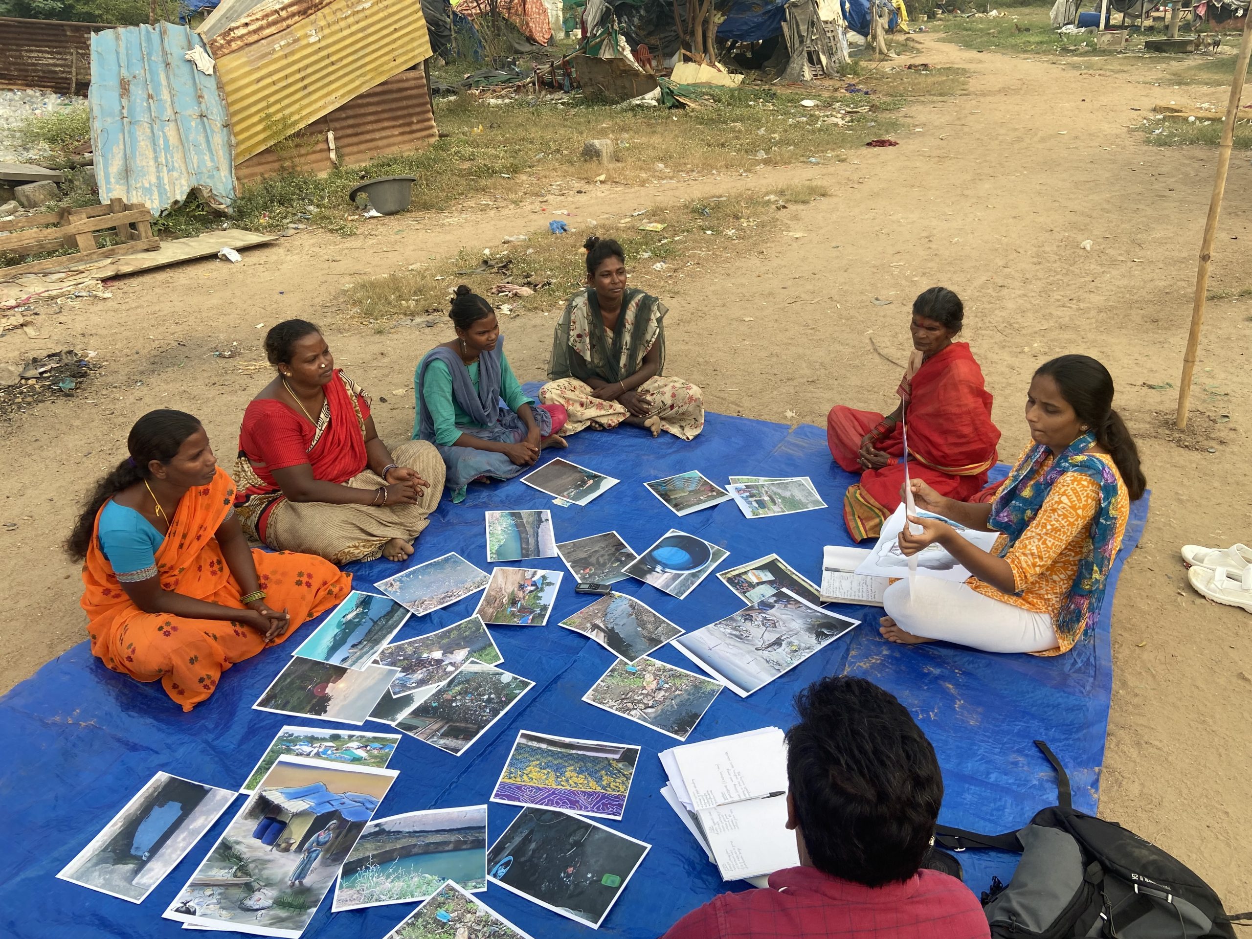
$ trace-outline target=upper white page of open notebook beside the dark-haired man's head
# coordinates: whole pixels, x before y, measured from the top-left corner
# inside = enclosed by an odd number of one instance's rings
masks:
[[[777,727],[679,746],[674,756],[697,810],[786,793],[786,739]]]

